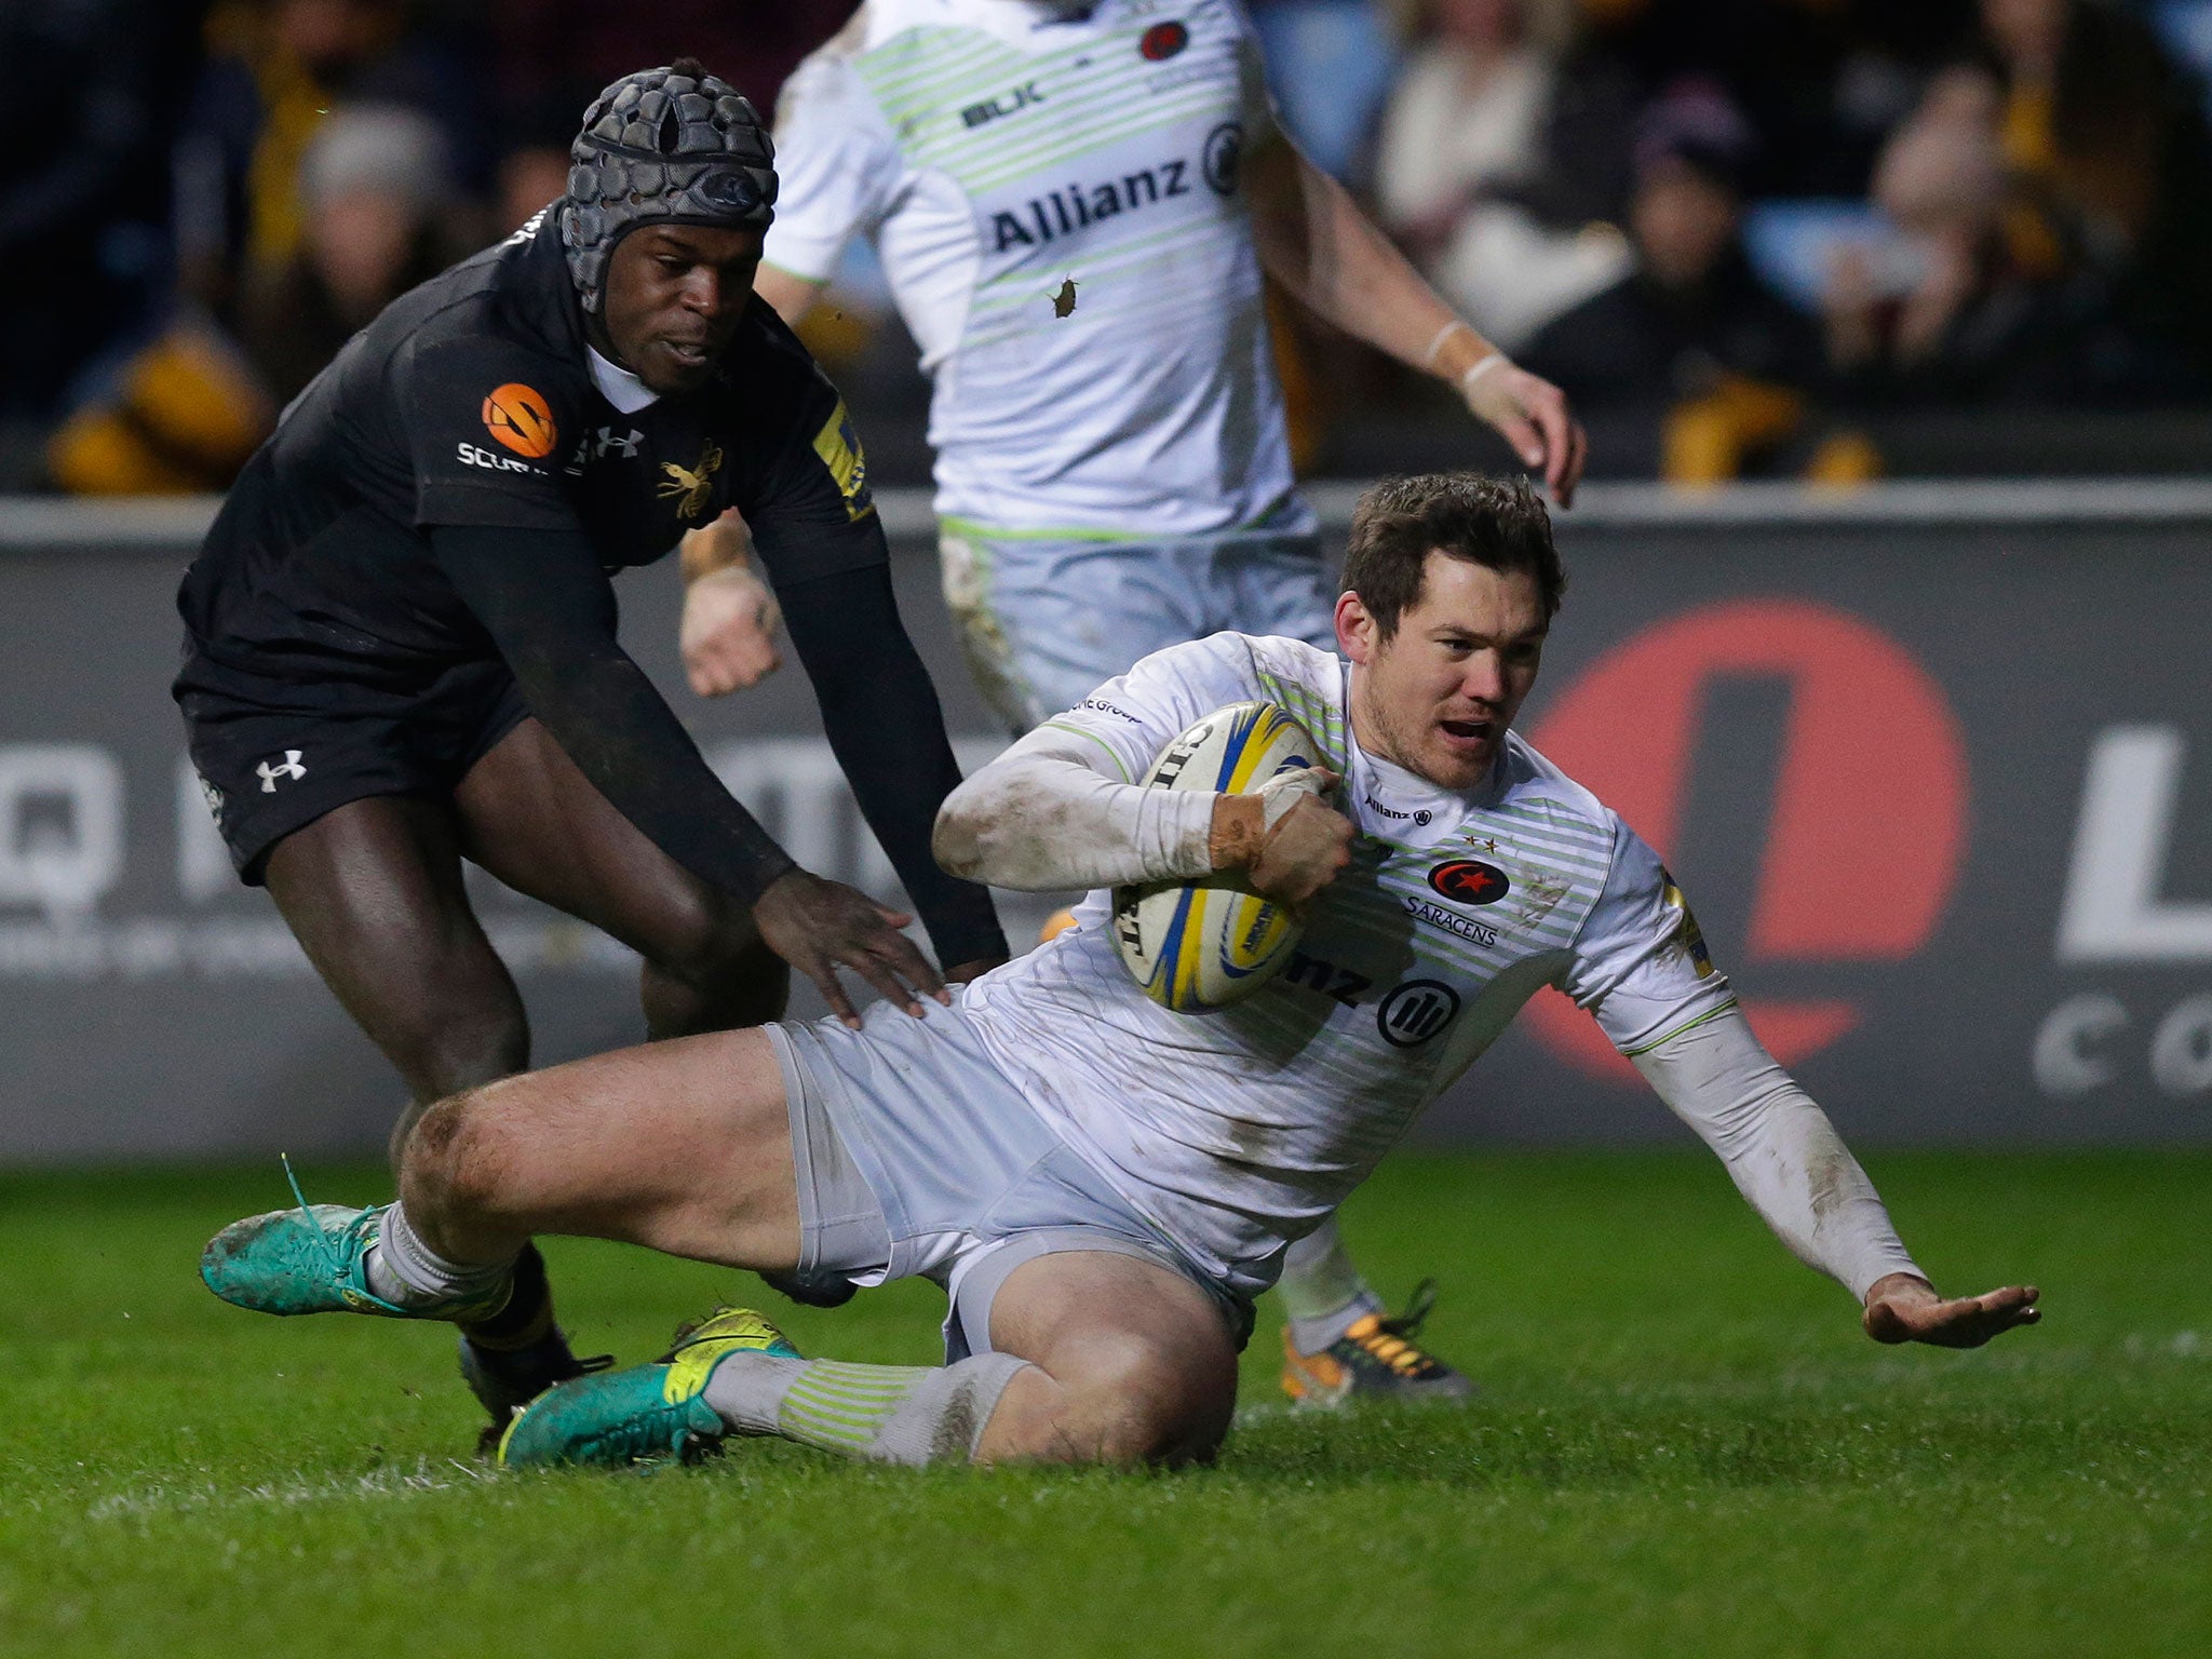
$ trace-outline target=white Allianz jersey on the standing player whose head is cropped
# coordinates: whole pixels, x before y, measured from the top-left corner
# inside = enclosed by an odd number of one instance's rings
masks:
[[[1303,531],[1239,184],[1270,122],[1234,0],[867,0],[785,82],[765,257],[876,241],[940,518]]]

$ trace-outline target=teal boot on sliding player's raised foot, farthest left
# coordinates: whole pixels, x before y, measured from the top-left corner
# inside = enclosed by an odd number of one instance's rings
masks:
[[[292,1177],[290,1161],[285,1177]],[[427,1307],[400,1307],[369,1290],[367,1256],[385,1210],[378,1203],[352,1210],[343,1203],[307,1203],[292,1179],[294,1210],[232,1221],[199,1252],[199,1276],[208,1290],[237,1307],[261,1314],[380,1314],[385,1318],[491,1318],[513,1294],[500,1283],[480,1296]]]

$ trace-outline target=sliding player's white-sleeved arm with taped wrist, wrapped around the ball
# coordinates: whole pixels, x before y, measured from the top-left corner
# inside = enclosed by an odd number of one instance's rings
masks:
[[[1243,872],[1301,902],[1349,860],[1352,821],[1305,768],[1254,794],[1137,783],[1183,728],[1259,692],[1250,646],[1214,635],[1159,650],[975,772],[938,812],[933,852],[956,876],[1011,891],[1071,891]]]

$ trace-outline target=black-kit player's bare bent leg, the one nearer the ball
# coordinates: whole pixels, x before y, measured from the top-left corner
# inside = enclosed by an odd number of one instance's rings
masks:
[[[639,993],[653,1037],[783,1013],[790,971],[743,905],[655,847],[535,719],[467,770],[453,807],[469,858],[646,958]]]

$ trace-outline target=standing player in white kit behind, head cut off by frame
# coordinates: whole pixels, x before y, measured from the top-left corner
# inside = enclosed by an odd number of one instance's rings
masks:
[[[1263,272],[1453,385],[1555,500],[1582,473],[1559,392],[1453,316],[1276,131],[1234,0],[867,0],[785,84],[776,166],[754,292],[796,323],[854,237],[880,254],[933,383],[945,599],[1015,734],[1223,628],[1334,650]],[[728,531],[686,546],[703,692],[772,661],[739,549]],[[1418,1316],[1385,1316],[1334,1225],[1281,1287],[1296,1398],[1469,1394],[1413,1340]]]

